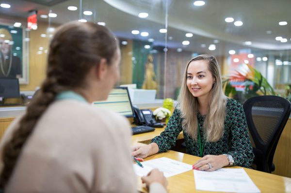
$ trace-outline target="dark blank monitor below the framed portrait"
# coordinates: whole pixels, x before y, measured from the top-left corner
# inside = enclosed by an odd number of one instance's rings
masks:
[[[0,78],[0,98],[17,98],[19,96],[18,78]]]

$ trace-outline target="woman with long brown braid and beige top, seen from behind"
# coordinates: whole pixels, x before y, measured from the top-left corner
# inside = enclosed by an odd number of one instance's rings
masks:
[[[70,22],[57,30],[41,89],[0,142],[1,189],[136,192],[128,121],[91,105],[106,100],[119,61],[118,41],[104,26]],[[143,181],[150,192],[165,192],[162,172],[153,170]]]

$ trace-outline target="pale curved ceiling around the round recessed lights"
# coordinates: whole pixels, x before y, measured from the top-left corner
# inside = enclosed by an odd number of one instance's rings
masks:
[[[5,0],[0,0],[0,3]],[[50,18],[50,22],[62,24],[80,18],[79,0],[6,0],[10,9],[0,8],[0,16],[14,15],[26,17],[29,10],[37,9],[38,15],[49,11],[58,14]],[[38,2],[38,3],[36,3]],[[89,21],[104,21],[117,36],[121,38],[147,40],[154,38],[154,45],[164,45],[165,35],[159,33],[165,28],[165,15],[168,11],[168,34],[172,40],[167,40],[169,47],[183,48],[193,52],[208,52],[208,46],[216,43],[214,55],[221,55],[229,49],[252,48],[266,50],[291,49],[291,0],[205,0],[202,7],[195,7],[194,0],[82,0],[82,11],[90,10],[93,15],[82,15]],[[41,3],[41,4],[39,4]],[[56,3],[56,4],[55,4]],[[47,5],[45,5],[47,4]],[[68,6],[77,6],[77,11],[67,10]],[[137,15],[147,12],[149,16],[141,19]],[[225,18],[231,16],[241,20],[243,25],[236,27],[226,23]],[[38,17],[38,20],[48,21]],[[288,25],[279,26],[279,21],[287,21]],[[149,32],[149,37],[132,35],[131,30]],[[266,31],[271,30],[271,34]],[[192,32],[192,38],[186,38],[185,33]],[[276,36],[287,38],[287,43],[275,40]],[[183,46],[181,42],[189,40],[190,45]],[[245,41],[252,45],[245,46]],[[201,48],[205,44],[205,48]]]

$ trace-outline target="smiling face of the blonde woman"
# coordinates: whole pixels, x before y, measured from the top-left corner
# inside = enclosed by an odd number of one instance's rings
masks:
[[[215,78],[208,70],[208,61],[192,61],[187,69],[187,87],[191,94],[197,98],[209,99],[209,93]]]

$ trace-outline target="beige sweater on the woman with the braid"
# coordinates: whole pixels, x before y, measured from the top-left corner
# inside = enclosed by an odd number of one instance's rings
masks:
[[[0,154],[18,121],[4,134]],[[134,193],[130,136],[129,122],[120,115],[75,100],[54,102],[22,149],[6,191]],[[150,190],[165,192],[158,183]]]

